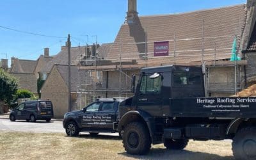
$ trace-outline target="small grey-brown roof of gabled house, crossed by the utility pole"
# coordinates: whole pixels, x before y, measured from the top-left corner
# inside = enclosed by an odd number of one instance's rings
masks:
[[[68,65],[56,65],[57,70],[60,72],[61,77],[68,86]],[[90,77],[86,77],[85,70],[79,70],[77,66],[71,66],[71,91],[76,92],[80,84],[86,84]],[[86,77],[86,78],[85,78]]]

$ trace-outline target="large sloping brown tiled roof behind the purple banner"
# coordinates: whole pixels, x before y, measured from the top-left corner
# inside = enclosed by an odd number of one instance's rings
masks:
[[[141,57],[146,52],[150,63],[173,63],[174,56],[176,61],[188,63],[201,61],[203,48],[204,60],[228,59],[235,35],[239,46],[245,19],[245,4],[174,15],[138,17],[136,23],[121,26],[109,49],[108,59],[119,58],[121,54],[124,60],[127,58],[129,61],[145,63]],[[145,40],[147,47],[143,43]],[[159,41],[169,41],[168,57],[154,58],[154,42]]]

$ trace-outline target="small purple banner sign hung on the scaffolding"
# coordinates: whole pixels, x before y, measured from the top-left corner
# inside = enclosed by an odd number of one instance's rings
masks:
[[[154,56],[168,56],[169,42],[154,42]]]

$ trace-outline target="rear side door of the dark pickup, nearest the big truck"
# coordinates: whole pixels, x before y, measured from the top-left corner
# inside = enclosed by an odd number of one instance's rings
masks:
[[[113,123],[116,121],[115,102],[103,102],[99,111],[101,129],[113,130]]]

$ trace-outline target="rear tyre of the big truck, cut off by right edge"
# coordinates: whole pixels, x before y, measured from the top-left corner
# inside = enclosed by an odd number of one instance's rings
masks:
[[[240,129],[232,142],[236,159],[256,159],[256,127]]]

